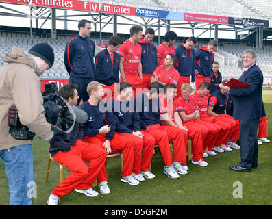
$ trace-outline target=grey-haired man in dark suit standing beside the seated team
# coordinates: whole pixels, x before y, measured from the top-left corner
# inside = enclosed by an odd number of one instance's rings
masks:
[[[258,121],[262,118],[262,71],[256,66],[256,53],[250,49],[243,52],[244,72],[239,80],[250,86],[230,88],[233,99],[234,119],[240,120],[240,162],[230,170],[250,172],[258,165]],[[222,84],[220,86],[223,86]]]

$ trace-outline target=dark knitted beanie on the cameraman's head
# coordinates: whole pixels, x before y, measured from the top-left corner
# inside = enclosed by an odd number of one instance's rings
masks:
[[[49,44],[45,42],[38,43],[29,49],[29,53],[40,57],[42,60],[45,60],[45,62],[49,65],[49,68],[53,66],[55,55],[52,47]]]

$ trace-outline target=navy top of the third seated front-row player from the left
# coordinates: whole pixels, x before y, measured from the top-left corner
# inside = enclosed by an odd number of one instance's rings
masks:
[[[112,114],[116,119],[115,131],[131,134],[132,131],[140,131],[141,121],[139,114],[134,112],[134,101],[120,102],[112,99],[108,106],[112,107]]]

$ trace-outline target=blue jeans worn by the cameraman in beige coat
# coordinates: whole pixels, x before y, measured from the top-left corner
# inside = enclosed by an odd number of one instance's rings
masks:
[[[33,153],[31,144],[0,151],[10,188],[10,205],[32,205],[34,194]]]

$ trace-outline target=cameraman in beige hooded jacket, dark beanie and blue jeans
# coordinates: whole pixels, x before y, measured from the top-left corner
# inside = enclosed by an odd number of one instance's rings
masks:
[[[8,126],[8,112],[12,105],[18,109],[22,125],[42,140],[53,138],[51,125],[42,114],[43,99],[38,77],[51,68],[54,52],[47,43],[34,45],[28,52],[13,47],[4,57],[0,68],[0,157],[10,189],[10,205],[32,205],[34,170],[32,139],[13,138]]]

